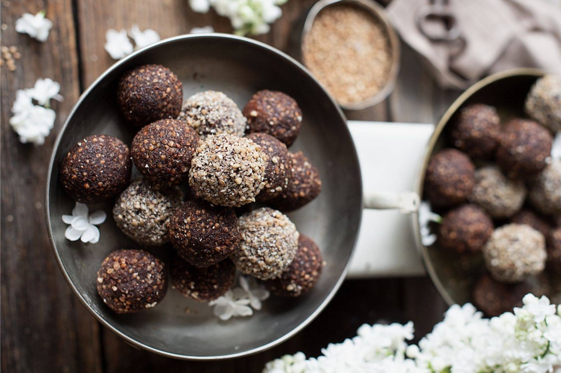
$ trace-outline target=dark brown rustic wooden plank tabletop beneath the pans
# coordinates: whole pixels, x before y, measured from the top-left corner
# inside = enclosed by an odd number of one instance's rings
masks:
[[[283,17],[256,39],[287,50],[293,24],[314,0],[290,0]],[[1,68],[1,368],[4,372],[259,372],[285,353],[320,355],[329,342],[353,337],[362,323],[412,320],[424,335],[442,319],[446,306],[428,277],[347,280],[323,313],[289,341],[254,356],[224,362],[164,358],[128,346],[102,327],[73,295],[54,260],[44,218],[44,190],[54,139],[80,92],[114,61],[104,50],[105,30],[157,30],[162,38],[212,25],[231,32],[214,12],[192,12],[187,0],[3,0],[3,46],[17,46],[15,71]],[[54,26],[45,43],[15,31],[22,13],[47,12]],[[444,91],[419,58],[403,46],[401,73],[390,98],[349,119],[434,123],[459,94]],[[65,100],[55,102],[57,120],[43,146],[21,144],[8,124],[17,89],[39,77],[61,83]]]

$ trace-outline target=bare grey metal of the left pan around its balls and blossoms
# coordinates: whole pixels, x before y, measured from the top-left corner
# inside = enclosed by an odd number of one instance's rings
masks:
[[[318,167],[323,190],[315,201],[289,213],[297,229],[318,243],[325,262],[318,284],[299,299],[270,297],[251,318],[219,321],[206,304],[190,301],[171,287],[160,304],[133,315],[116,315],[96,292],[95,278],[112,250],[137,248],[116,227],[112,203],[91,205],[108,218],[95,245],[65,239],[61,216],[74,202],[59,183],[59,164],[77,141],[111,134],[129,144],[135,129],[116,105],[119,77],[136,66],[158,63],[183,82],[184,99],[203,90],[223,91],[240,108],[257,90],[286,92],[303,111],[301,134],[291,151],[304,151]],[[47,221],[54,254],[76,295],[105,326],[128,342],[163,355],[215,359],[261,351],[295,334],[323,309],[347,272],[361,216],[361,179],[356,151],[341,110],[300,64],[255,41],[232,35],[186,35],[167,39],[119,61],[77,102],[59,134],[49,169]],[[167,258],[171,247],[151,249]]]

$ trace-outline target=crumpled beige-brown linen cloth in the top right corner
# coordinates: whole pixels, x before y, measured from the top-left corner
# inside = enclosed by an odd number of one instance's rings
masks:
[[[461,49],[458,43],[431,41],[417,27],[420,9],[430,3],[393,0],[387,9],[401,38],[421,54],[441,86],[465,88],[515,67],[561,75],[559,6],[545,0],[449,0],[448,10],[465,41]],[[426,26],[435,31],[444,27],[436,21]]]

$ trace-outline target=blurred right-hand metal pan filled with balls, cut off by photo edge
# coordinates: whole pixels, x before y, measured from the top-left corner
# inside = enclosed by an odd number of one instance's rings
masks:
[[[561,77],[535,69],[476,83],[438,123],[419,190],[440,218],[416,229],[449,304],[496,316],[528,292],[561,300],[560,130]]]

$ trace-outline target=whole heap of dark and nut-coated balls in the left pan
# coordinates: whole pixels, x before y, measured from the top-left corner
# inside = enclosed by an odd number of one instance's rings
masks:
[[[144,249],[166,243],[174,251],[172,285],[197,301],[223,295],[236,269],[276,295],[299,296],[315,285],[321,252],[283,213],[321,191],[316,167],[287,148],[302,123],[292,97],[262,90],[243,110],[217,91],[183,102],[176,74],[149,64],[122,76],[117,102],[123,119],[138,128],[130,150],[113,136],[86,137],[60,173],[76,201],[116,199],[114,221],[142,248],[105,258],[96,279],[105,304],[126,314],[161,301],[166,266]],[[133,164],[139,176],[131,182]]]

